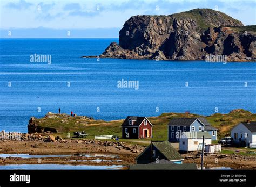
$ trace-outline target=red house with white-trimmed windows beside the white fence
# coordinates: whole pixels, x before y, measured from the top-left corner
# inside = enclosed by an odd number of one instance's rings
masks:
[[[122,137],[126,139],[152,138],[153,125],[146,117],[128,116],[122,124]]]

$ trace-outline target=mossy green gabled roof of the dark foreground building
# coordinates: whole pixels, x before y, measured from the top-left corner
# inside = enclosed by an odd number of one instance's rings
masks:
[[[184,160],[183,157],[177,152],[177,150],[172,147],[171,143],[168,141],[153,141],[152,145],[156,147],[161,154],[163,154],[166,160],[174,161],[174,160]],[[145,150],[149,149],[151,145],[147,146]],[[145,150],[137,156],[136,160],[144,154]]]

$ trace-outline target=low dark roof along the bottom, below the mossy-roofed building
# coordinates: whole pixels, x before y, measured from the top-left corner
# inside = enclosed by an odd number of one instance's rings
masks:
[[[184,170],[193,169],[197,170],[197,164],[195,163],[183,163],[183,164],[134,164],[129,166],[130,170]]]

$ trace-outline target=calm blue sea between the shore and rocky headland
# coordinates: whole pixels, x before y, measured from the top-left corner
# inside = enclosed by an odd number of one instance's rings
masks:
[[[27,132],[31,116],[59,107],[104,120],[210,115],[215,107],[256,112],[256,63],[80,58],[102,53],[112,41],[118,39],[1,39],[0,130]],[[35,53],[51,55],[51,64],[30,62]],[[122,79],[139,81],[139,89],[118,88]]]

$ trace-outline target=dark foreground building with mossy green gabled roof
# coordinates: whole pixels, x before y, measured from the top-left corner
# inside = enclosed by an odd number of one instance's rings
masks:
[[[183,157],[168,141],[153,141],[145,150],[136,158],[137,164],[158,163],[165,159],[171,163],[181,164]]]

